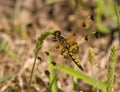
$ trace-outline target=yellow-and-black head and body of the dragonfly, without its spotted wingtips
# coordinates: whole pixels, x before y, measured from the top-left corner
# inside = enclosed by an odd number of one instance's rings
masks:
[[[62,46],[61,55],[65,58],[70,58],[79,67],[79,69],[83,71],[83,67],[76,57],[76,53],[79,52],[77,42],[73,41],[72,43],[69,43],[67,39],[61,35],[60,31],[55,31],[53,35],[54,39]]]

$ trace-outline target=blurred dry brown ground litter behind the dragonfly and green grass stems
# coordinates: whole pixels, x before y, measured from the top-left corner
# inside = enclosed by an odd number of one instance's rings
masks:
[[[93,14],[95,3],[94,0],[83,0],[78,7],[72,6],[69,0],[46,4],[46,0],[0,0],[0,78],[5,75],[11,75],[9,80],[0,83],[0,92],[26,92],[30,72],[34,61],[34,51],[37,38],[41,32],[49,28],[61,30],[66,37],[75,31],[77,35],[74,38],[78,42],[80,51],[79,59],[84,67],[84,73],[95,79],[106,80],[109,51],[113,45],[117,45],[118,33],[117,24],[109,22],[106,19],[105,24],[111,26],[115,31],[110,34],[101,35],[100,38],[92,38],[83,42],[80,40],[90,30],[98,31],[96,23],[88,21],[88,28],[82,27],[82,21],[85,17]],[[104,19],[104,18],[103,18]],[[48,69],[45,51],[50,50],[53,61],[57,64],[64,64],[73,67],[73,63],[64,59],[60,55],[59,49],[54,49],[58,44],[48,37],[42,46],[37,60],[31,92],[46,92],[49,84],[49,77],[44,73]],[[95,50],[95,62],[93,66],[94,75],[88,61],[88,50],[92,47]],[[115,66],[114,88],[120,92],[120,51]],[[72,92],[72,76],[63,72],[56,71],[57,84],[61,92]],[[77,90],[90,92],[91,86],[78,80]],[[15,91],[19,90],[20,91]]]

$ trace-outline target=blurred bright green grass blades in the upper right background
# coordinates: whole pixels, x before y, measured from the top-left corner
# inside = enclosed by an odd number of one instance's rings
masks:
[[[104,25],[102,16],[107,20],[112,21],[114,24],[117,24],[118,19],[116,18],[116,13],[114,10],[114,2],[112,0],[96,0],[96,25],[100,32],[110,33],[112,30]]]

